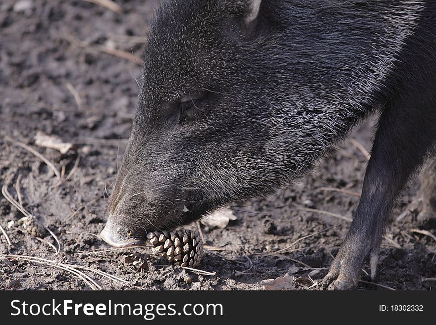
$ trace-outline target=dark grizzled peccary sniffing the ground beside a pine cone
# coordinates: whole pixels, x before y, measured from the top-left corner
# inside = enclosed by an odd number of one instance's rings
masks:
[[[140,244],[309,172],[378,110],[349,233],[323,286],[356,285],[436,140],[436,1],[168,0],[102,237]],[[431,186],[430,186],[431,187]]]

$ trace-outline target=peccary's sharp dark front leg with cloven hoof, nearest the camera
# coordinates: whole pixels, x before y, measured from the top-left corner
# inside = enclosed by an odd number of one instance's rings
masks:
[[[384,228],[395,200],[434,143],[435,120],[435,110],[416,97],[413,101],[384,108],[361,200],[342,247],[322,281],[322,288],[347,290],[355,287],[368,255],[371,278],[374,279]]]

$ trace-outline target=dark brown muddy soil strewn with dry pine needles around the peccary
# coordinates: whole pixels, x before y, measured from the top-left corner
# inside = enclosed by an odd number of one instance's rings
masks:
[[[338,144],[312,175],[266,199],[232,205],[237,219],[226,228],[202,226],[209,252],[197,268],[215,275],[170,266],[149,248],[113,249],[99,239],[137,103],[135,79],[141,70],[133,56],[141,57],[141,37],[156,5],[154,0],[116,2],[119,13],[84,0],[1,1],[0,184],[18,199],[20,176],[23,206],[59,239],[60,251],[56,254],[51,235],[41,241],[18,225],[24,215],[0,194],[0,225],[12,244],[0,235],[0,288],[92,288],[77,273],[24,256],[89,267],[127,281],[78,269],[104,289],[258,290],[260,281],[287,272],[322,279],[349,228],[340,216],[352,218],[359,201],[325,188],[359,193],[367,164],[351,138]],[[351,135],[367,149],[374,121]],[[61,154],[38,146],[38,132],[71,142],[77,151]],[[17,141],[41,153],[59,173],[64,170],[60,184],[52,168]],[[378,284],[411,290],[436,285],[425,280],[436,277],[436,241],[413,231],[436,232],[435,223],[417,221],[419,185],[419,178],[410,184],[394,211],[394,219],[402,218],[391,224],[382,242]],[[133,253],[140,263],[126,258]],[[363,269],[369,272],[367,263]],[[365,274],[362,279],[370,281]],[[294,288],[308,289],[307,282]],[[360,282],[357,289],[385,288]]]

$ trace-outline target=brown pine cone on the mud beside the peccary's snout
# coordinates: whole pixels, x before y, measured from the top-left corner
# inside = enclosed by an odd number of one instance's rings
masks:
[[[195,267],[203,257],[203,242],[196,232],[149,232],[147,238],[154,251],[174,265]]]

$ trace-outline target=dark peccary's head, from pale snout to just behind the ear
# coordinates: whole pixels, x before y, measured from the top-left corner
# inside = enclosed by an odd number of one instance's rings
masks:
[[[172,229],[278,183],[285,157],[271,147],[270,103],[259,84],[265,71],[244,48],[255,46],[259,5],[171,0],[157,11],[102,232],[109,244],[139,244],[149,230]]]

